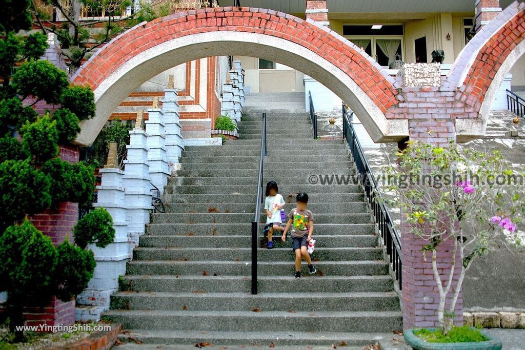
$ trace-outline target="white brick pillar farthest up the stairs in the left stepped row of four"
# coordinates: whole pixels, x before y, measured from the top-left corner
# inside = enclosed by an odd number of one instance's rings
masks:
[[[164,90],[162,100],[162,112],[164,113],[164,137],[169,170],[175,170],[175,164],[184,150],[181,134],[181,115],[178,112],[177,91],[173,87],[173,76],[170,76],[168,87]]]

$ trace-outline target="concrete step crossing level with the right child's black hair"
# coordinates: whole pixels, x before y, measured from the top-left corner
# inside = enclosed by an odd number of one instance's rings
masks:
[[[327,186],[328,187],[328,186]],[[280,189],[280,188],[279,188]],[[295,203],[296,193],[286,194],[280,191],[285,201]],[[239,194],[238,192],[230,194],[165,194],[162,198],[165,203],[254,203],[256,194]],[[308,204],[312,203],[341,203],[345,201],[364,200],[362,192],[355,193],[309,193]]]

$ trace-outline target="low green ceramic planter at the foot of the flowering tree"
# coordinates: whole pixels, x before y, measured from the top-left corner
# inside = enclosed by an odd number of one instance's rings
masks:
[[[414,334],[421,328],[404,331],[405,341],[416,350],[501,350],[501,342],[488,334],[480,331],[489,340],[485,342],[469,343],[427,343]],[[427,328],[431,331],[436,328]]]

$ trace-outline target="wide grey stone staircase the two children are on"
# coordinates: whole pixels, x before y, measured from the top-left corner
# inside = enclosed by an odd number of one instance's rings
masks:
[[[277,237],[276,248],[258,251],[259,294],[250,294],[262,126],[256,108],[239,122],[240,140],[186,147],[182,169],[165,187],[167,212],[151,215],[104,314],[127,330],[121,347],[362,349],[402,330],[400,300],[356,178],[309,182],[311,175],[354,175],[348,150],[342,140],[313,140],[304,112],[268,114],[264,181],[279,184],[287,212],[298,192],[309,194],[318,274],[309,275],[303,262],[303,278],[294,279],[290,240]]]

